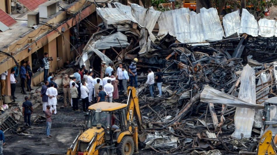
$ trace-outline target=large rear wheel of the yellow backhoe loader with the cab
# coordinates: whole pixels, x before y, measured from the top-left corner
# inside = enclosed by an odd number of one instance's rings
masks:
[[[117,155],[133,155],[134,141],[130,136],[124,136],[121,142],[117,145]]]

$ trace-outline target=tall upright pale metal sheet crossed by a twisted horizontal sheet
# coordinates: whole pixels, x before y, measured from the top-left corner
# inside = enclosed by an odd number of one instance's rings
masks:
[[[256,103],[256,87],[255,87],[255,71],[248,64],[243,67],[241,74],[241,86],[238,98],[250,104]],[[235,131],[232,133],[233,137],[250,138],[254,122],[255,109],[250,108],[236,108],[234,117]]]

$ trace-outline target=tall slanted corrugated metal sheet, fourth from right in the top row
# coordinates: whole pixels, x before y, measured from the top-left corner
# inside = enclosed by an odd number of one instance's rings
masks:
[[[224,37],[224,32],[216,8],[201,8],[200,13],[203,24],[204,39],[221,40],[222,37]]]

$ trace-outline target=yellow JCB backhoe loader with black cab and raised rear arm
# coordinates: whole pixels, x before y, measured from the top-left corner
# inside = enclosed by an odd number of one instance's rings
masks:
[[[89,106],[86,130],[80,131],[66,154],[132,155],[138,152],[138,132],[144,129],[143,121],[136,89],[128,87],[128,94],[127,104],[99,102]]]

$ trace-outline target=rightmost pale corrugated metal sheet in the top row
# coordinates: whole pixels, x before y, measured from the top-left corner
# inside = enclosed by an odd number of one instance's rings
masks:
[[[273,37],[276,29],[275,20],[269,20],[266,18],[262,18],[258,22],[259,24],[259,35],[262,37]]]

